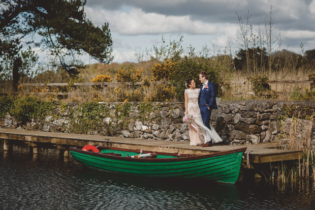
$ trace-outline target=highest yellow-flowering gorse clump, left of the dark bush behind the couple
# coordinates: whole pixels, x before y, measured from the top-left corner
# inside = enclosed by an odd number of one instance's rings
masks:
[[[165,63],[162,64],[155,64],[151,69],[154,79],[156,81],[160,81],[163,78],[170,80],[176,65],[176,63],[172,63],[169,60],[166,60]]]

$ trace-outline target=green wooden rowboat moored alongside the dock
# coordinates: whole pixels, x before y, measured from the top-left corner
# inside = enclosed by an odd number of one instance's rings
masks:
[[[206,155],[161,153],[99,146],[98,152],[70,147],[83,165],[101,171],[159,178],[199,178],[235,183],[246,147]]]

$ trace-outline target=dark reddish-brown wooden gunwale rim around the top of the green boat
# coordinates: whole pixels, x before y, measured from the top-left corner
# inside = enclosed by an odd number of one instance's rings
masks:
[[[187,154],[179,154],[179,153],[163,153],[163,152],[152,152],[152,151],[143,151],[143,153],[156,153],[157,155],[169,155],[169,156],[178,156],[180,158],[132,158],[132,157],[121,157],[121,156],[113,156],[106,153],[94,153],[94,152],[88,152],[83,151],[82,149],[78,148],[79,146],[73,146],[70,147],[70,152],[77,152],[81,154],[86,154],[90,156],[96,156],[96,157],[102,157],[107,159],[115,159],[115,160],[124,160],[124,161],[135,161],[135,162],[178,162],[178,161],[191,161],[191,160],[199,160],[199,159],[205,159],[205,158],[212,158],[217,156],[224,156],[229,155],[233,153],[239,153],[239,152],[245,152],[247,147],[237,148],[237,149],[231,149],[228,151],[223,152],[214,152],[210,154],[202,154],[202,155],[193,155],[188,157],[183,157],[182,155]],[[102,149],[112,149],[117,151],[123,151],[123,152],[134,152],[134,153],[140,153],[140,149],[125,149],[125,148],[118,148],[118,147],[109,147],[109,146],[101,146]]]

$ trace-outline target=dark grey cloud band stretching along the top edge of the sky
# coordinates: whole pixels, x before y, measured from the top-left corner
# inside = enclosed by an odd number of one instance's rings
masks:
[[[244,17],[248,10],[251,14],[250,24],[265,23],[270,15],[274,24],[281,29],[313,27],[315,3],[296,0],[93,0],[88,1],[90,8],[103,8],[106,11],[123,11],[126,8],[140,9],[143,13],[160,14],[165,16],[189,17],[192,21],[204,23],[237,23],[236,12]],[[130,9],[128,9],[130,10]],[[301,24],[303,20],[304,23]]]

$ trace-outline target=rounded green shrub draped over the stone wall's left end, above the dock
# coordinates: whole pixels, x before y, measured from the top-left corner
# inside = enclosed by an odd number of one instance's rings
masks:
[[[42,101],[36,96],[29,95],[25,98],[16,98],[14,106],[10,109],[10,113],[17,121],[25,123],[37,117],[42,119],[51,113],[54,107],[54,102]]]

